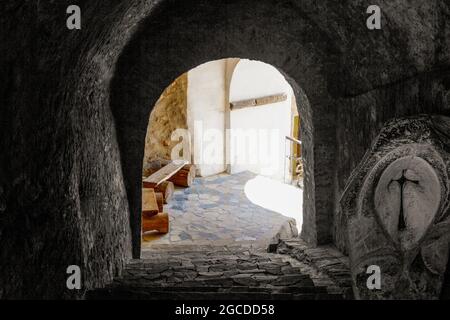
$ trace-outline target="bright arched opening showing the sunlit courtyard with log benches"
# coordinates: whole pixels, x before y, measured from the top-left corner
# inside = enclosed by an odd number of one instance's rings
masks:
[[[267,248],[297,237],[303,216],[298,114],[285,77],[260,61],[210,61],[176,78],[146,131],[143,248]],[[185,164],[176,167],[177,161]]]

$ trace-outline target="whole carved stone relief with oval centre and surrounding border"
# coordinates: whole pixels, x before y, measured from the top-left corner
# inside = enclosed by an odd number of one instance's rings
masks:
[[[417,116],[385,125],[341,198],[355,296],[439,298],[450,242],[450,118]],[[367,267],[381,289],[367,288]]]

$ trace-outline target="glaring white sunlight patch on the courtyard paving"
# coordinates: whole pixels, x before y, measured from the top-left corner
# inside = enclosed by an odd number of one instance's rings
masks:
[[[294,218],[297,229],[302,230],[303,191],[263,176],[257,176],[245,184],[245,195],[252,203],[265,209]]]

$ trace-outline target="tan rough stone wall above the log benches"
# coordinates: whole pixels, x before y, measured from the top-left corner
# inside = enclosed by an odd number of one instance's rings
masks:
[[[178,77],[162,93],[150,115],[145,138],[144,168],[156,159],[170,159],[176,129],[187,129],[187,73]]]

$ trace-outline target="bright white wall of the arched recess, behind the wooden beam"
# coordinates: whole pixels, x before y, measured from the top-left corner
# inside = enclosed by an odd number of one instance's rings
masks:
[[[293,92],[283,75],[259,61],[239,61],[231,79],[231,102],[283,93],[287,95],[283,102],[231,111],[230,173],[249,170],[282,180],[285,136],[292,130]]]

